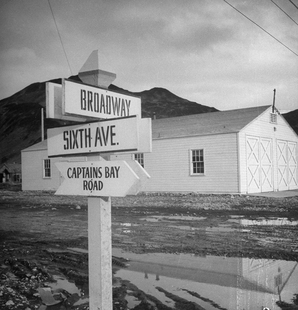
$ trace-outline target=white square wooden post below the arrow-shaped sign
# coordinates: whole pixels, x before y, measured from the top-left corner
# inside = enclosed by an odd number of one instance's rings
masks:
[[[112,310],[111,197],[88,197],[89,309]]]

